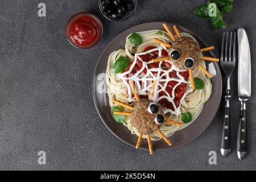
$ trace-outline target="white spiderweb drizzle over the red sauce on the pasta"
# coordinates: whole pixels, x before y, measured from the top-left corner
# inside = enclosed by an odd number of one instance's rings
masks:
[[[188,81],[185,81],[184,77],[181,76],[179,74],[179,72],[177,71],[177,69],[175,69],[175,67],[172,65],[171,69],[168,70],[164,70],[162,69],[161,65],[163,63],[163,61],[160,61],[159,63],[159,67],[158,68],[148,68],[147,64],[150,64],[151,61],[145,62],[141,59],[141,55],[146,55],[148,53],[151,53],[153,51],[158,51],[158,56],[161,57],[162,56],[162,50],[165,49],[168,52],[168,49],[162,45],[154,48],[154,49],[150,49],[148,51],[145,52],[139,52],[139,53],[135,53],[134,55],[134,61],[133,64],[131,64],[131,67],[128,71],[123,72],[119,75],[119,78],[121,78],[121,80],[123,80],[123,82],[125,83],[126,87],[127,87],[127,91],[129,94],[129,101],[136,101],[135,98],[131,98],[131,88],[130,85],[127,83],[127,80],[133,80],[135,82],[135,85],[139,85],[139,81],[142,82],[142,88],[140,88],[141,90],[137,90],[137,92],[141,95],[147,95],[148,93],[150,93],[151,88],[152,88],[152,83],[148,84],[148,82],[152,82],[154,80],[156,80],[155,83],[155,90],[154,90],[154,96],[153,99],[155,102],[158,102],[160,100],[162,100],[163,98],[166,98],[169,102],[172,103],[172,105],[174,106],[174,111],[172,111],[171,109],[165,109],[164,110],[164,114],[167,113],[171,113],[171,114],[175,114],[175,115],[179,115],[180,114],[180,106],[181,106],[181,102],[184,100],[184,98],[187,96],[188,93],[192,92],[192,89],[187,90],[183,97],[180,100],[180,105],[178,107],[176,107],[175,103],[174,103],[174,98],[175,98],[175,89],[177,88],[177,86],[179,86],[181,84],[181,82],[184,82],[185,84],[188,84]],[[133,70],[133,68],[135,67],[136,63],[137,63],[137,59],[139,59],[142,62],[142,68],[139,69],[139,71],[137,73],[135,73],[134,75],[132,75],[131,77],[125,77],[125,75],[129,75],[131,74],[131,71]],[[166,60],[168,61],[168,60]],[[146,75],[144,75],[144,77],[139,77],[139,74],[144,70],[144,68],[147,69],[147,73]],[[178,78],[171,78],[169,76],[169,73],[172,71],[176,71],[176,75]],[[155,77],[155,75],[152,72],[157,72],[157,76]],[[163,73],[160,76],[160,73]],[[148,77],[151,76],[151,77]],[[166,78],[164,78],[164,76],[166,76]],[[166,91],[166,87],[169,81],[176,81],[177,84],[174,86],[174,88],[172,88],[172,95],[170,96],[170,94]],[[164,84],[160,84],[160,82],[164,82]],[[148,85],[147,85],[148,84]],[[158,87],[160,87],[159,90]],[[160,92],[165,92],[167,94],[163,95],[161,97],[158,97],[158,94]]]

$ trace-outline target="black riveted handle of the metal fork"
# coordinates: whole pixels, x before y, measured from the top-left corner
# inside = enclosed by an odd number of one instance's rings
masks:
[[[231,143],[231,127],[230,127],[230,110],[229,100],[231,96],[226,94],[225,96],[225,114],[223,117],[222,132],[221,132],[221,154],[226,157],[230,152]]]

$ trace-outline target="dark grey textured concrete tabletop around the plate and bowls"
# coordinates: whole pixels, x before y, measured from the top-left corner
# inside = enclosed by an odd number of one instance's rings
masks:
[[[38,3],[46,3],[46,17],[38,16]],[[92,98],[94,65],[104,47],[120,32],[139,23],[166,21],[187,27],[219,48],[223,30],[213,31],[207,19],[191,12],[205,1],[138,0],[135,14],[125,22],[106,20],[96,0],[0,1],[0,169],[256,169],[255,75],[248,105],[249,154],[242,162],[236,155],[237,70],[232,78],[232,153],[220,155],[223,103],[208,129],[193,142],[172,151],[135,150],[105,127]],[[252,73],[255,73],[254,0],[234,1],[225,15],[226,31],[246,29],[250,38]],[[81,50],[65,39],[69,17],[91,11],[104,24],[96,47]],[[39,165],[38,151],[46,151],[46,165]],[[217,164],[209,165],[208,152],[217,152]]]

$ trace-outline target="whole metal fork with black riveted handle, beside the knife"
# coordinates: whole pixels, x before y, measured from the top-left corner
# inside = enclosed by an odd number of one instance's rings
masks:
[[[226,75],[226,94],[225,94],[225,114],[223,117],[223,125],[221,132],[221,154],[226,157],[230,153],[230,143],[231,143],[231,127],[230,127],[230,110],[229,110],[229,100],[231,99],[230,95],[230,76],[234,68],[236,67],[236,32],[234,33],[234,40],[232,45],[232,35],[231,32],[229,40],[229,32],[226,33],[226,42],[225,42],[225,32],[222,38],[221,44],[221,57],[220,65],[222,71]],[[229,41],[228,41],[229,40]],[[229,43],[229,55],[228,55],[228,43]],[[225,44],[225,52],[224,52]],[[232,51],[233,48],[233,51]]]

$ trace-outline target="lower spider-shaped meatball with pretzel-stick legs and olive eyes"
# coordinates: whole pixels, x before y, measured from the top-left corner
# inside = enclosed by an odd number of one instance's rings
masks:
[[[155,102],[146,99],[140,99],[137,91],[135,89],[135,85],[132,80],[129,81],[131,86],[131,90],[133,90],[135,99],[134,106],[124,104],[121,101],[114,100],[115,104],[121,105],[130,109],[130,112],[124,111],[114,111],[113,114],[117,115],[127,115],[131,118],[131,125],[138,130],[139,138],[137,141],[136,148],[139,148],[141,145],[142,135],[147,135],[148,149],[150,154],[153,154],[152,142],[150,139],[150,134],[156,131],[160,137],[162,137],[166,143],[171,146],[171,141],[160,131],[160,127],[163,125],[163,122],[171,123],[172,125],[181,126],[182,123],[172,121],[171,119],[164,118],[163,107]],[[149,94],[149,98],[152,98],[155,88],[155,81],[152,82],[151,92]]]

